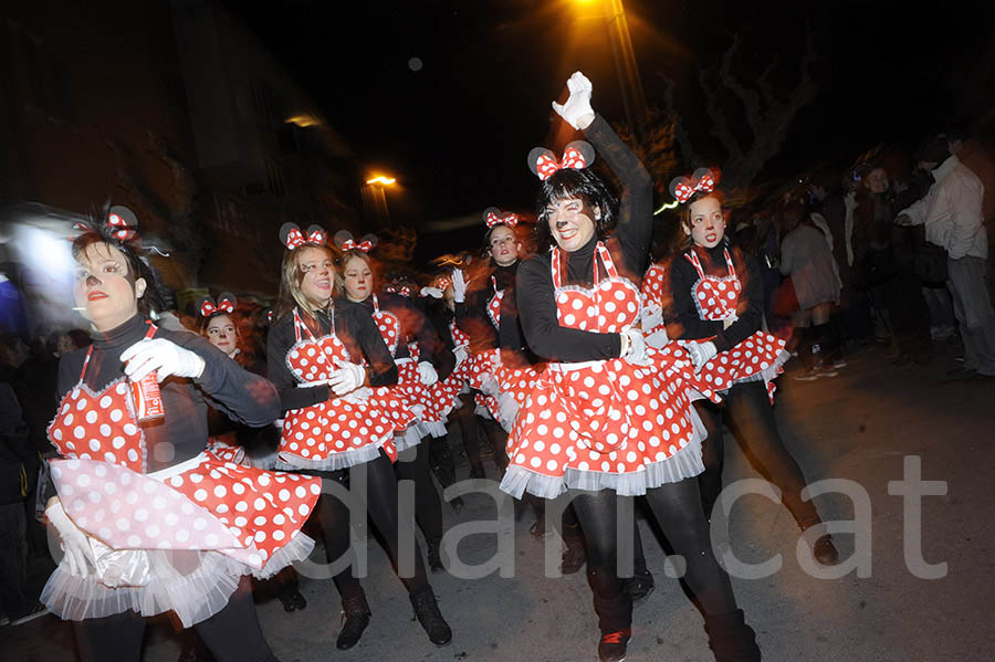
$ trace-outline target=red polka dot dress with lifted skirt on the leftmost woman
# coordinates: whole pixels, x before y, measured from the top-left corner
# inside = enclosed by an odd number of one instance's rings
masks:
[[[96,570],[73,576],[60,563],[41,596],[50,611],[66,620],[174,611],[190,627],[223,609],[243,575],[271,577],[307,557],[314,543],[301,527],[318,479],[206,452],[146,474],[129,382],[87,387],[92,353],[48,434],[65,458],[51,461],[53,484],[66,515],[93,538]]]

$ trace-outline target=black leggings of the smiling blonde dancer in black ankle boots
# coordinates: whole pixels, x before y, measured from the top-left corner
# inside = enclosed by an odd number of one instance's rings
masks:
[[[399,535],[398,535],[398,503],[397,503],[397,476],[394,474],[394,467],[390,460],[380,451],[376,459],[362,465],[365,467],[367,475],[367,496],[366,507],[369,518],[373,521],[377,533],[384,538],[387,547],[387,555],[390,557],[390,564],[394,570],[398,569],[399,557]],[[355,471],[355,469],[354,469]],[[342,482],[342,471],[301,471],[308,475],[320,476],[322,479],[331,479]],[[317,508],[317,518],[322,526],[322,537],[325,540],[325,553],[328,561],[335,561],[344,554],[349,553],[352,540],[349,539],[349,509],[339,500],[329,494],[323,494],[321,505]],[[409,532],[412,536],[413,532]],[[425,563],[422,561],[421,550],[415,544],[413,570],[411,577],[401,577],[405,588],[408,592],[428,586],[428,578],[425,572]],[[346,568],[335,576],[335,586],[338,588],[339,595],[349,598],[362,591],[359,580],[353,577],[350,568]]]

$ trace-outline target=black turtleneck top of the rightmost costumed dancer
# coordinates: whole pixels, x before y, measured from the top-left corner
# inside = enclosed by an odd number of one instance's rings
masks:
[[[699,275],[694,265],[684,255],[693,251],[705,274],[722,277],[729,275],[723,254],[725,248],[729,248],[736,276],[743,288],[736,303],[737,319],[727,329],[722,330],[722,322],[705,322],[698,315],[691,288],[698,282]],[[751,255],[731,244],[727,238],[712,249],[692,246],[675,255],[670,266],[670,287],[673,294],[672,304],[663,312],[663,317],[667,322],[667,335],[672,339],[696,340],[715,336],[712,339],[715,349],[725,351],[755,334],[763,324],[764,281],[760,265]]]

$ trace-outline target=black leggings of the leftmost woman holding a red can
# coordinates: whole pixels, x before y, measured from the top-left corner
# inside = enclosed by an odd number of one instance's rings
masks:
[[[248,577],[242,577],[224,609],[193,628],[218,662],[276,661],[259,628]],[[73,630],[84,662],[137,662],[142,658],[145,619],[134,611],[75,621]]]

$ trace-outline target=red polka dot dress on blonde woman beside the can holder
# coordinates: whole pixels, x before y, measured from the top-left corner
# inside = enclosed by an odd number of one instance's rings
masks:
[[[335,335],[315,338],[294,309],[296,344],[286,354],[286,366],[302,387],[326,383],[337,369],[335,360],[349,361],[345,345]],[[277,451],[280,469],[333,471],[363,464],[384,451],[397,455],[395,433],[413,420],[400,396],[387,387],[359,388],[343,397],[302,409],[291,409],[283,419]]]

